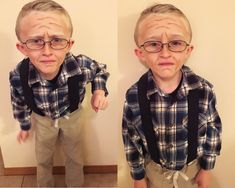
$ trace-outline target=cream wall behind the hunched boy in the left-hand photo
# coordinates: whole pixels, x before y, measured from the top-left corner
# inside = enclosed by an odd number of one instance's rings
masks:
[[[21,7],[29,0],[9,0],[0,6],[0,53],[1,53],[1,92],[0,92],[0,143],[5,167],[35,166],[34,137],[24,144],[16,141],[18,122],[13,119],[9,93],[9,71],[23,58],[15,47],[15,20]],[[110,92],[109,108],[96,114],[90,107],[90,94],[83,103],[82,123],[85,134],[85,164],[117,164],[117,122],[115,116],[117,98],[117,5],[110,0],[57,0],[72,18],[74,25],[74,54],[85,54],[98,62],[107,64],[111,77],[108,83]],[[107,8],[108,7],[108,8]],[[88,88],[87,93],[90,93]],[[57,165],[62,164],[63,156],[59,149],[55,157]]]

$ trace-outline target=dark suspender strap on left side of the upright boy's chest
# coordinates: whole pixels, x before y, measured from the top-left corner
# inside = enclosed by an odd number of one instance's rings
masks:
[[[150,101],[147,98],[148,74],[145,73],[138,81],[138,100],[140,106],[141,120],[143,122],[143,131],[147,141],[148,150],[151,159],[160,163],[159,151],[157,147],[157,137],[153,130],[153,122],[150,112]]]

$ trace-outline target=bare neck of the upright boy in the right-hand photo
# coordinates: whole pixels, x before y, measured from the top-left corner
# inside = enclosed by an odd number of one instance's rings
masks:
[[[154,81],[164,93],[172,93],[178,87],[181,77],[182,72],[180,71],[179,74],[169,79],[164,79],[154,75]]]

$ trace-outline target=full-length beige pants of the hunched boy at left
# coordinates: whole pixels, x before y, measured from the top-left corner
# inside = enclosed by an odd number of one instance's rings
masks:
[[[54,187],[52,175],[53,155],[57,138],[61,139],[65,154],[65,182],[68,187],[78,187],[84,182],[79,110],[71,113],[69,119],[55,121],[33,114],[36,134],[37,184],[39,187]]]

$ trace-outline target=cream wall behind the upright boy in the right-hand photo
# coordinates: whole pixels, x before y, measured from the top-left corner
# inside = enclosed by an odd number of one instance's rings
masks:
[[[187,65],[214,84],[218,110],[223,123],[223,143],[213,172],[213,188],[234,187],[235,137],[235,2],[233,0],[119,0],[118,71],[119,107],[124,93],[145,72],[134,55],[133,32],[139,13],[153,2],[172,3],[189,18],[193,29],[194,51]],[[119,113],[121,118],[122,112]],[[121,121],[120,121],[121,124]],[[119,130],[120,131],[120,130]],[[120,138],[120,137],[119,137]],[[121,143],[121,139],[119,139]],[[119,186],[131,187],[123,146],[119,154]]]

